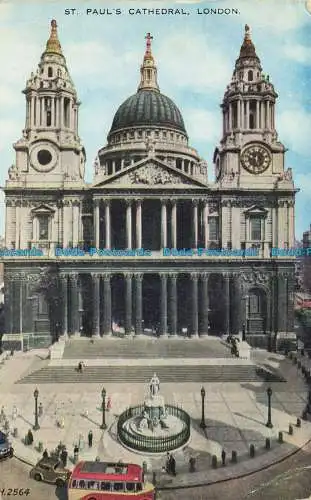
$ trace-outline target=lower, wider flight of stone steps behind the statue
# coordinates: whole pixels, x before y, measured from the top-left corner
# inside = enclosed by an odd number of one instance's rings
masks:
[[[19,384],[70,383],[146,383],[154,366],[86,366],[78,373],[75,366],[49,366],[22,377]],[[162,383],[191,382],[285,382],[277,373],[256,365],[179,365],[157,366]]]

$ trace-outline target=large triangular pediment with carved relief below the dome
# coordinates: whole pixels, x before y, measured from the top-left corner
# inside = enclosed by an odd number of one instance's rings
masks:
[[[203,182],[190,177],[171,165],[167,165],[157,158],[144,158],[130,167],[116,172],[104,179],[98,179],[93,187],[101,186],[165,186],[165,187],[207,187]]]

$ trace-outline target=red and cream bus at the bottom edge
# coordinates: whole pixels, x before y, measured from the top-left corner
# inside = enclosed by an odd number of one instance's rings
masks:
[[[140,465],[79,462],[68,483],[68,500],[155,500]]]

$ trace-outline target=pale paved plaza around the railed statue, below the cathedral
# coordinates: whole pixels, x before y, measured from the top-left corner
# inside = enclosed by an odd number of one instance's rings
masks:
[[[199,383],[161,383],[160,393],[168,404],[182,407],[191,417],[191,438],[186,446],[177,450],[174,455],[177,465],[177,477],[172,478],[162,471],[165,464],[165,454],[159,456],[141,455],[126,450],[117,439],[116,423],[118,416],[129,406],[141,404],[149,391],[146,380],[142,383],[113,383],[107,379],[104,386],[107,397],[112,399],[112,409],[106,412],[107,430],[102,431],[101,391],[102,383],[51,383],[31,384],[20,383],[27,375],[39,373],[47,366],[61,366],[70,363],[75,370],[77,361],[72,359],[49,360],[48,350],[15,353],[0,368],[1,402],[10,422],[11,431],[18,429],[18,437],[13,438],[16,456],[27,463],[35,463],[41,456],[37,445],[42,442],[48,450],[56,448],[61,441],[66,444],[69,452],[69,467],[73,467],[72,455],[75,444],[80,446],[80,459],[94,460],[97,456],[105,460],[146,462],[148,470],[156,472],[160,488],[176,488],[181,485],[200,485],[213,483],[224,478],[232,478],[278,462],[295,452],[311,438],[311,423],[302,422],[302,427],[296,427],[296,420],[306,408],[308,390],[300,375],[297,364],[284,356],[254,351],[254,359],[249,363],[265,367],[271,373],[278,373],[279,380],[284,382],[245,381],[204,383],[206,391],[205,416],[206,429],[200,428],[201,422],[201,384]],[[187,365],[196,362],[204,367],[212,361],[207,358],[191,360],[186,358]],[[116,363],[113,358],[91,359],[87,361],[93,366]],[[124,360],[124,367],[133,361]],[[221,359],[215,359],[216,368],[221,367]],[[243,360],[227,359],[234,366]],[[308,361],[306,360],[306,363]],[[122,365],[121,359],[118,363]],[[169,364],[166,359],[148,359],[149,369],[157,371],[161,364]],[[176,360],[175,360],[176,363]],[[142,360],[136,360],[135,367],[139,370],[144,366]],[[277,380],[277,379],[276,379]],[[273,428],[266,427],[267,394],[272,388],[272,422]],[[43,405],[43,415],[39,418],[40,429],[33,431],[34,444],[25,446],[22,438],[34,424],[35,388],[39,390],[39,403]],[[16,405],[18,416],[13,421],[12,410]],[[60,428],[57,422],[63,421]],[[288,434],[289,424],[294,427],[294,435]],[[88,432],[93,432],[93,445],[88,447]],[[283,431],[284,443],[278,443],[278,433]],[[271,450],[265,449],[266,438],[271,438]],[[249,458],[249,446],[254,444],[255,458]],[[222,450],[227,454],[227,466],[222,467]],[[231,464],[231,453],[236,451],[238,464]],[[211,467],[211,457],[216,455],[219,466]],[[196,459],[196,472],[189,473],[189,459]]]

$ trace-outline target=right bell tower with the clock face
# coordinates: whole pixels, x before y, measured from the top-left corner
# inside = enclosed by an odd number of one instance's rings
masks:
[[[221,104],[223,130],[214,153],[216,181],[228,187],[269,188],[284,173],[285,147],[278,141],[278,95],[262,72],[245,26],[244,40]]]

